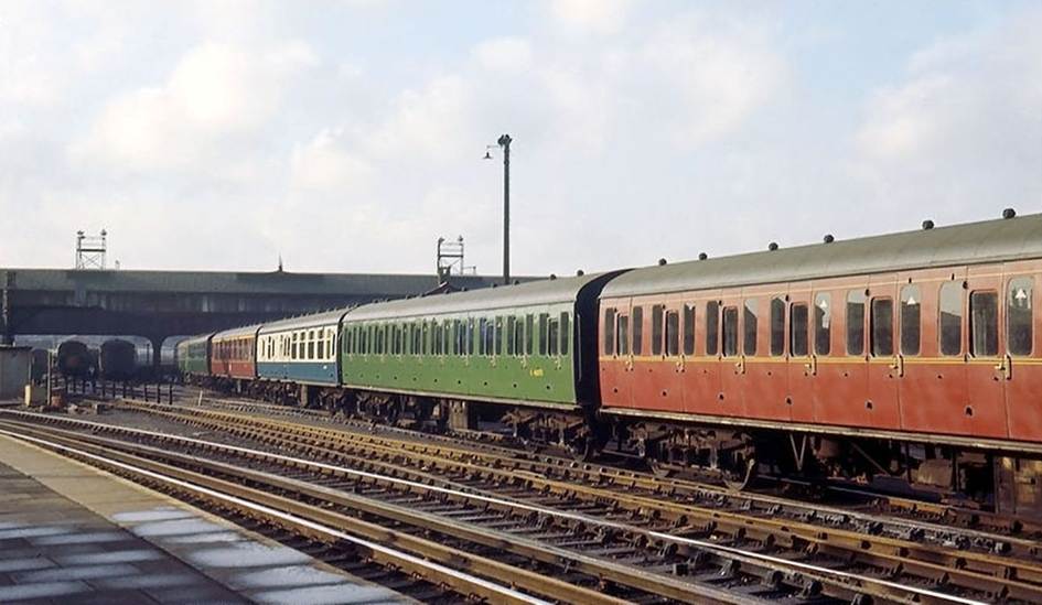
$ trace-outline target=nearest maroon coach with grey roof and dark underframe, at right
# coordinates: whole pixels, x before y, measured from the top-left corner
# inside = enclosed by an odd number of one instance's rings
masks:
[[[764,465],[1042,514],[1042,215],[626,272],[601,418],[663,471]]]

